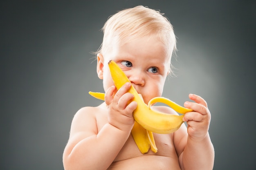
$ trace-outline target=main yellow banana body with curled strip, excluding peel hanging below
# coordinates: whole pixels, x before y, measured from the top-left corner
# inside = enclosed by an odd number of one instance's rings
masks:
[[[113,82],[117,89],[121,88],[121,86],[123,86],[126,82],[130,82],[128,77],[114,61],[111,60],[108,65],[110,68]],[[149,105],[147,106],[133,86],[131,86],[128,93],[132,93],[134,95],[133,101],[137,102],[137,108],[133,111],[133,117],[135,121],[137,121],[137,123],[140,124],[143,128],[151,132],[161,134],[175,132],[175,130],[177,130],[183,123],[182,117],[184,116],[161,113],[148,107],[152,106],[152,104],[154,104],[155,102],[166,103],[168,106],[171,106],[175,111],[177,110],[182,114],[193,111],[191,109],[184,108],[164,97],[155,97],[151,99],[148,102]]]

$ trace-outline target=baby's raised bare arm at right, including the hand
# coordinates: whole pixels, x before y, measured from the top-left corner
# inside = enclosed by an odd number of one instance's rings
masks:
[[[186,113],[183,120],[187,122],[187,134],[180,136],[180,144],[177,146],[184,148],[179,155],[182,170],[212,170],[214,163],[214,148],[209,136],[209,124],[211,114],[207,108],[207,103],[198,95],[189,95],[194,102],[185,102],[184,106],[194,110]],[[179,136],[179,135],[177,135]],[[176,143],[178,143],[177,139]],[[183,146],[182,146],[183,145]]]

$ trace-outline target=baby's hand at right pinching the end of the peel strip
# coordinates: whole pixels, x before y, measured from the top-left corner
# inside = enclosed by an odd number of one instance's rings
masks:
[[[204,139],[208,134],[211,113],[207,108],[207,102],[198,95],[189,94],[189,98],[194,102],[185,102],[184,106],[194,110],[184,115],[183,121],[188,124],[187,131],[189,137],[195,140]]]

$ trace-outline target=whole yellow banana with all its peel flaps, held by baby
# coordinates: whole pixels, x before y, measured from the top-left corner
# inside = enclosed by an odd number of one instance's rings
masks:
[[[118,90],[126,82],[130,82],[128,77],[114,61],[110,60],[108,66],[113,82]],[[133,111],[135,125],[131,133],[135,143],[143,154],[148,152],[149,148],[151,148],[153,152],[157,152],[153,132],[160,134],[172,133],[178,130],[184,122],[182,120],[184,115],[171,115],[152,110],[151,106],[153,104],[157,102],[164,103],[181,114],[193,111],[164,97],[154,97],[148,102],[148,105],[146,105],[133,86],[131,86],[128,93],[132,93],[134,95],[132,101],[137,102],[137,108]],[[97,99],[104,100],[104,93],[89,92],[89,94]]]

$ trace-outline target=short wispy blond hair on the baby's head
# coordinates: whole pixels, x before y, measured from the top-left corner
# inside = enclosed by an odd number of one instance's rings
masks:
[[[170,59],[177,50],[173,26],[168,18],[148,7],[137,6],[117,12],[108,18],[102,31],[103,42],[97,53],[103,55],[112,49],[111,42],[122,45],[134,38],[155,35],[166,44]]]

